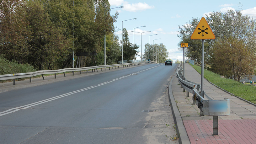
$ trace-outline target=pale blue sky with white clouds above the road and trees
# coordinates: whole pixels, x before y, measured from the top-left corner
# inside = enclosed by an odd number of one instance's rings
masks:
[[[140,33],[133,35],[135,32],[142,33],[142,53],[144,53],[144,46],[146,43],[164,44],[169,57],[174,62],[176,60],[183,61],[183,50],[178,50],[178,43],[180,38],[177,37],[178,26],[185,25],[194,18],[202,18],[210,12],[227,12],[229,9],[239,10],[242,15],[254,16],[256,18],[256,1],[255,0],[108,0],[110,8],[124,6],[122,8],[115,8],[111,10],[111,15],[116,11],[119,12],[117,22],[114,26],[117,27],[119,40],[121,37],[122,21],[123,28],[126,28],[129,34],[129,41],[140,46]],[[129,20],[137,18],[137,20]],[[128,20],[128,21],[126,21]],[[146,27],[141,27],[146,26]],[[139,27],[139,28],[136,28]],[[151,32],[147,32],[151,31]],[[158,34],[158,35],[153,35]],[[153,35],[153,36],[150,36]],[[150,37],[149,37],[150,36]],[[160,39],[159,39],[160,38]],[[154,50],[155,52],[155,50]],[[139,54],[136,56],[140,60],[141,48]],[[151,51],[150,51],[151,53]],[[186,59],[186,58],[185,58]]]

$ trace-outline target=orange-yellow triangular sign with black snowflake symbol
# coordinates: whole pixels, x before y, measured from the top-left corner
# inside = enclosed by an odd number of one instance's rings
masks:
[[[198,23],[196,29],[192,33],[191,39],[215,39],[215,35],[213,34],[210,26],[208,25],[206,19],[204,17],[201,18]]]

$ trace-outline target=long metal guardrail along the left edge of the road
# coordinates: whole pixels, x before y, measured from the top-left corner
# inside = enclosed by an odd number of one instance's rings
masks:
[[[59,74],[59,73],[63,73],[64,74],[64,77],[66,77],[65,75],[65,72],[73,72],[73,75],[74,75],[74,71],[80,71],[80,74],[81,74],[81,71],[84,71],[86,70],[86,73],[88,73],[88,70],[93,70],[95,71],[95,69],[98,71],[98,69],[101,68],[101,71],[102,71],[102,68],[105,68],[107,70],[107,68],[111,68],[112,69],[114,67],[119,68],[119,66],[122,66],[126,67],[126,66],[133,66],[133,65],[142,65],[142,64],[147,64],[147,63],[151,63],[151,61],[146,61],[146,62],[139,62],[139,63],[126,63],[126,64],[113,64],[113,65],[99,65],[99,66],[89,66],[89,67],[84,67],[84,68],[66,68],[66,69],[58,69],[58,70],[39,70],[39,71],[34,71],[34,72],[30,72],[30,73],[19,73],[19,74],[6,74],[6,75],[0,75],[0,80],[10,80],[10,79],[13,79],[13,85],[15,85],[15,79],[18,79],[18,78],[30,78],[30,82],[32,81],[31,80],[31,77],[33,76],[37,76],[37,75],[42,75],[43,77],[43,80],[44,79],[44,76],[45,74],[54,74],[54,78],[56,79],[56,74]]]

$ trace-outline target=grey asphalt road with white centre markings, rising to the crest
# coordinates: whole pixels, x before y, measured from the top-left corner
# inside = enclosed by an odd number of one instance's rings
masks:
[[[0,143],[178,143],[167,91],[176,68],[147,64],[2,92]]]

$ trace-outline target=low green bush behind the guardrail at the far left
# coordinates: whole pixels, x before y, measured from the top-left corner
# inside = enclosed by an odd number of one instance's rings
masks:
[[[17,73],[28,73],[36,71],[33,66],[29,64],[18,64],[17,62],[13,61],[10,62],[9,60],[5,59],[2,55],[0,55],[0,75],[5,74],[17,74]],[[25,78],[17,79],[23,80]],[[6,82],[10,80],[2,80],[0,82]]]

